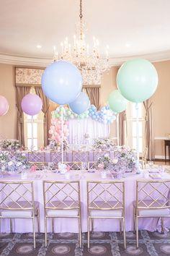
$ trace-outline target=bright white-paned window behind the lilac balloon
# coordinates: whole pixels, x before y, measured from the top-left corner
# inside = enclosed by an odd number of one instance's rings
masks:
[[[30,93],[35,93],[35,89],[31,88]],[[35,116],[24,114],[24,142],[29,150],[37,150],[43,145],[43,118],[42,111]]]

